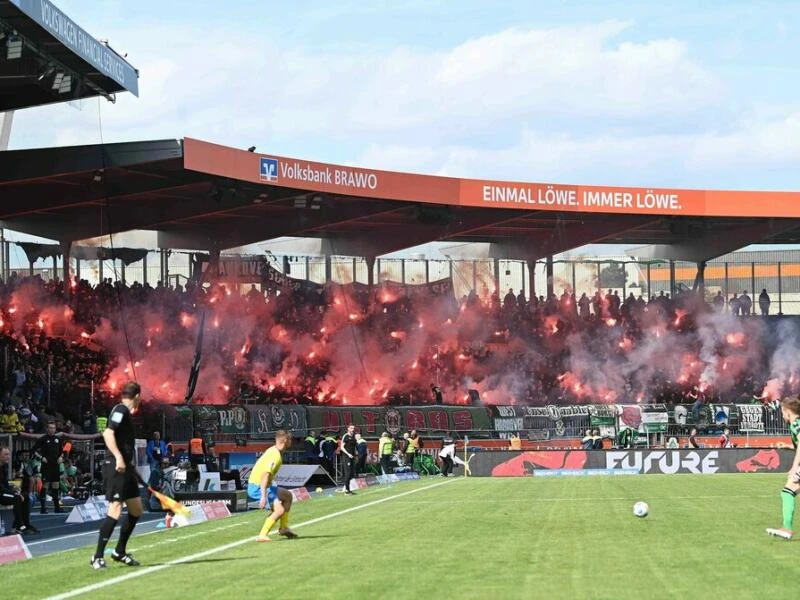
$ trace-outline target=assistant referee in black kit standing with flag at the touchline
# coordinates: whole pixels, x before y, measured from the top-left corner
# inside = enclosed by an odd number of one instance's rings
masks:
[[[106,443],[106,459],[103,462],[103,483],[105,485],[108,513],[100,525],[97,550],[92,557],[93,569],[105,569],[103,554],[114,527],[122,514],[122,503],[128,506],[128,518],[120,528],[119,541],[111,558],[116,562],[136,567],[139,562],[128,554],[128,539],[142,516],[142,499],[139,496],[139,474],[134,466],[136,431],[131,415],[139,410],[141,387],[130,381],[122,386],[122,402],[108,413],[108,425],[103,432]]]

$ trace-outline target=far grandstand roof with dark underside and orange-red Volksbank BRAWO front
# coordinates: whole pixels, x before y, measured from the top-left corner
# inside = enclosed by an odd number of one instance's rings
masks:
[[[494,255],[508,258],[613,242],[706,260],[750,243],[800,242],[800,193],[465,180],[188,138],[0,153],[0,198],[0,219],[18,231],[76,241],[150,229],[163,232],[162,247],[198,250],[292,235],[356,256],[453,240],[494,242]]]

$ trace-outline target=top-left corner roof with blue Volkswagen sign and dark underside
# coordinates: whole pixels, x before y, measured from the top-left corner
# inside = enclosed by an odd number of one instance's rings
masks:
[[[136,69],[49,0],[0,0],[0,112],[125,90]]]

